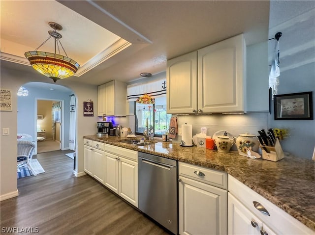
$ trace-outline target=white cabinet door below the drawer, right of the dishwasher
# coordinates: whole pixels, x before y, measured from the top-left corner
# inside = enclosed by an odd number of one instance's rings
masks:
[[[179,177],[179,233],[227,234],[227,191]]]

